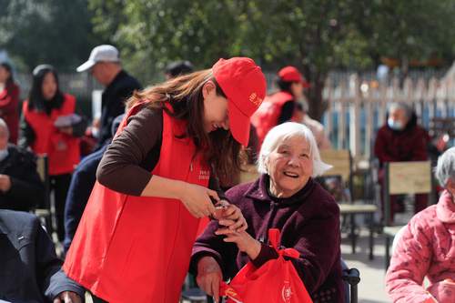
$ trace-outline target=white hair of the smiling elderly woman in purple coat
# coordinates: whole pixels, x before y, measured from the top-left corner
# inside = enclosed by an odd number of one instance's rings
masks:
[[[318,144],[316,143],[316,139],[308,126],[297,122],[285,122],[270,129],[264,139],[258,157],[259,173],[267,174],[264,164],[268,161],[268,157],[270,157],[271,152],[274,151],[280,143],[293,136],[301,137],[309,143],[309,153],[313,159],[313,174],[311,177],[321,176],[326,170],[331,168],[331,166],[321,161]]]

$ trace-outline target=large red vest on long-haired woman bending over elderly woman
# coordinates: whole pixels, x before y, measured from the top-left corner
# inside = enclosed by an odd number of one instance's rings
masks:
[[[209,166],[192,159],[192,140],[176,137],[185,127],[186,121],[163,111],[163,142],[152,173],[207,187]],[[178,302],[199,221],[180,200],[127,196],[96,181],[63,268],[111,303]]]

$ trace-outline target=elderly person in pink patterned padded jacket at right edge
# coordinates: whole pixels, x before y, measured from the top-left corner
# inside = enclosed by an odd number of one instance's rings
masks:
[[[436,177],[445,191],[438,204],[414,215],[404,227],[386,274],[393,302],[423,302],[430,295],[440,303],[455,302],[455,147],[438,159]],[[449,280],[447,280],[449,279]]]

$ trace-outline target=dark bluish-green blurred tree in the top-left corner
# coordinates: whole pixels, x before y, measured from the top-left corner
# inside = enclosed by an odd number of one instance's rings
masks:
[[[2,0],[0,49],[29,70],[74,71],[96,45],[86,0]]]

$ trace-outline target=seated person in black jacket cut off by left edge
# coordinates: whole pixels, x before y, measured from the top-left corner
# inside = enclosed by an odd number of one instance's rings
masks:
[[[45,197],[36,156],[8,139],[8,126],[0,118],[0,208],[29,211]]]

